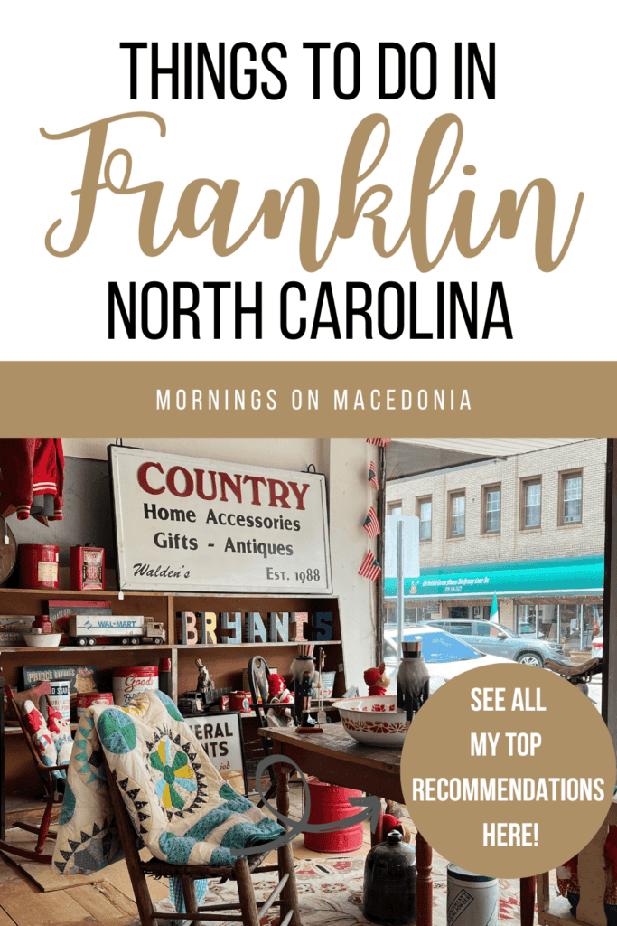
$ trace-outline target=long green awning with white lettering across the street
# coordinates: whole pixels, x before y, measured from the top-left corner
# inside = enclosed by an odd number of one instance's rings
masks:
[[[386,578],[386,598],[396,598],[396,578]],[[427,598],[491,598],[529,595],[602,594],[604,557],[527,559],[521,562],[475,563],[450,571],[420,569],[404,580],[405,600]]]

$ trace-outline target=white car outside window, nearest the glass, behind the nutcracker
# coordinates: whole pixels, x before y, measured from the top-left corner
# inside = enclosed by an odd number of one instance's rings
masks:
[[[461,672],[475,669],[477,666],[492,666],[507,663],[510,660],[500,656],[487,656],[470,646],[461,637],[453,636],[438,627],[426,627],[416,624],[413,628],[403,629],[403,640],[422,640],[422,655],[430,674],[431,694],[444,682],[453,679]],[[384,633],[384,661],[389,679],[395,679],[399,668],[398,633]]]

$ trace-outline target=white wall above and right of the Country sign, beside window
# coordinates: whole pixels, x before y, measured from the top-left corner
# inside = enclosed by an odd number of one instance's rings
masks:
[[[63,438],[67,457],[105,459],[113,437]],[[347,684],[366,693],[363,673],[375,662],[376,583],[358,569],[369,549],[363,529],[375,492],[368,483],[368,465],[376,448],[364,437],[125,437],[125,445],[279,469],[306,469],[315,463],[327,476],[330,548],[334,594],[339,595]],[[372,542],[375,549],[375,541]],[[383,564],[382,564],[383,565]]]

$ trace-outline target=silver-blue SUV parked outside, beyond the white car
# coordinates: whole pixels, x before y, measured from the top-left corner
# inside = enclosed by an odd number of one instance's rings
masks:
[[[454,636],[464,637],[480,653],[487,656],[500,656],[522,662],[525,666],[544,665],[545,659],[561,659],[563,646],[548,640],[537,640],[528,634],[514,633],[496,621],[490,620],[431,620],[427,626],[440,627]]]

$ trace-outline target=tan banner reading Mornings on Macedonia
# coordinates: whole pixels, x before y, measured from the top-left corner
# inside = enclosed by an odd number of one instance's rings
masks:
[[[617,363],[6,362],[7,436],[615,432]]]

